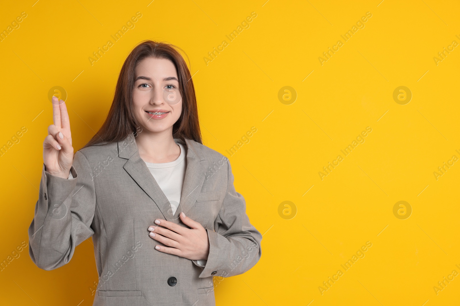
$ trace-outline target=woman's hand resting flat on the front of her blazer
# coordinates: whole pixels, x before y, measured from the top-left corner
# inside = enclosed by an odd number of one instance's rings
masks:
[[[156,245],[155,249],[190,260],[207,260],[209,244],[206,229],[183,212],[179,217],[190,228],[163,219],[156,219],[155,225],[149,227],[150,238],[167,245]]]

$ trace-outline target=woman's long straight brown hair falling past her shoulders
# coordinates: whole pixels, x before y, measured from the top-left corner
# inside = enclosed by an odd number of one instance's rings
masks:
[[[137,135],[136,131],[140,126],[134,117],[132,107],[132,91],[134,89],[134,78],[136,77],[135,67],[139,61],[147,57],[170,60],[177,70],[183,104],[182,114],[173,125],[173,138],[188,138],[202,144],[195,87],[193,86],[189,68],[178,50],[184,52],[175,45],[152,40],[144,40],[134,47],[123,63],[123,67],[121,67],[109,114],[96,135],[92,137],[84,148],[90,145],[121,141],[132,133]]]

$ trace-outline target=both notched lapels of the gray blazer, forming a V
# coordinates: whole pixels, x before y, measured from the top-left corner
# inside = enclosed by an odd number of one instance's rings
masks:
[[[201,155],[198,144],[190,139],[176,140],[185,144],[187,147],[187,168],[185,171],[180,203],[174,215],[169,200],[163,191],[161,191],[152,173],[150,173],[147,165],[145,165],[145,162],[140,157],[134,135],[130,134],[126,139],[118,142],[118,156],[127,159],[123,168],[139,187],[155,202],[156,206],[158,206],[163,214],[163,217],[173,223],[179,223],[180,212],[183,211],[185,215],[187,215],[187,211],[195,205],[206,178],[206,169],[201,164],[201,161],[204,161],[204,157]]]

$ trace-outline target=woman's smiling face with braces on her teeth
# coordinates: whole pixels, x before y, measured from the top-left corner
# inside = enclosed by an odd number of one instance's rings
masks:
[[[153,57],[135,68],[132,103],[143,130],[160,133],[170,130],[182,112],[182,96],[176,67],[167,59]]]

